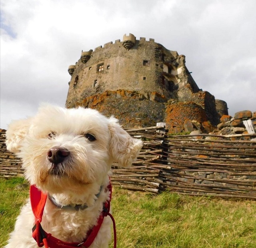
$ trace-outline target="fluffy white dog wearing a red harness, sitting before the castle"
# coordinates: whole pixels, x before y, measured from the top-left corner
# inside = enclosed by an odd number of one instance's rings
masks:
[[[12,122],[6,144],[34,186],[5,247],[108,247],[110,167],[113,161],[130,166],[142,141],[96,110],[46,105],[36,116]]]

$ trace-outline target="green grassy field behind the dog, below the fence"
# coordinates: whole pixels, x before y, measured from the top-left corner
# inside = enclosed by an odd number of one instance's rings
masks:
[[[23,182],[22,178],[0,179],[0,247],[28,197],[28,188],[16,188]],[[256,247],[255,201],[155,196],[115,187],[112,208],[118,248]]]

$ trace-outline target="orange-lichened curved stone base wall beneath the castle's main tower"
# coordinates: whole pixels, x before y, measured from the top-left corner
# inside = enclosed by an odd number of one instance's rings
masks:
[[[165,101],[166,98],[157,92],[149,95],[136,91],[116,90],[89,96],[76,106],[96,109],[108,117],[114,113],[114,117],[121,125],[126,128],[138,128],[155,126],[157,122],[162,122],[164,104],[161,102]]]

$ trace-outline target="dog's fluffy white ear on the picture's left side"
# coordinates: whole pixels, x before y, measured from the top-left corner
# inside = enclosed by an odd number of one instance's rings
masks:
[[[20,145],[28,133],[31,119],[14,120],[6,131],[6,146],[10,152],[19,152]]]

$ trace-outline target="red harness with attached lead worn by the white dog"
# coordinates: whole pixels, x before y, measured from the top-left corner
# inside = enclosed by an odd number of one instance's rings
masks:
[[[108,190],[110,192],[110,200],[112,194],[112,187],[111,183],[109,182]],[[40,222],[42,221],[42,215],[44,212],[44,206],[47,199],[47,194],[44,194],[35,185],[30,186],[30,202],[32,206],[32,211],[35,216],[36,224],[32,228],[32,236],[36,240],[37,245],[39,247],[45,246],[45,248],[74,248],[74,247],[81,247],[81,248],[88,248],[94,241],[98,231],[100,230],[100,226],[104,220],[104,217],[107,215],[110,216],[113,222],[113,229],[114,229],[114,248],[116,248],[116,224],[112,214],[110,214],[110,200],[107,200],[103,204],[103,210],[98,218],[97,224],[87,232],[86,239],[82,243],[78,242],[64,242],[52,236],[52,234],[47,233],[43,230]]]

